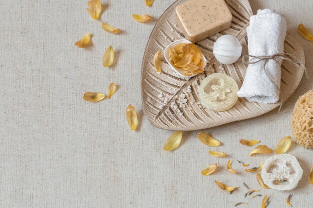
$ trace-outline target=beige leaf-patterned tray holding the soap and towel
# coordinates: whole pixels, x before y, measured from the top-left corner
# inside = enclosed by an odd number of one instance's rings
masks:
[[[213,43],[223,34],[236,36],[242,45],[242,55],[246,55],[247,36],[246,27],[252,9],[248,0],[225,0],[232,13],[232,24],[229,29],[208,37],[196,45],[201,49],[207,59],[204,74],[191,77],[186,80],[173,74],[173,70],[162,57],[162,73],[157,74],[153,67],[153,56],[158,51],[165,49],[171,42],[183,39],[178,23],[174,16],[174,8],[186,0],[177,0],[162,14],[147,42],[141,69],[141,98],[143,113],[147,120],[155,127],[174,131],[191,131],[205,129],[233,121],[244,120],[262,115],[277,106],[279,103],[262,105],[248,102],[244,98],[239,98],[234,107],[224,112],[213,112],[206,110],[198,105],[197,89],[200,81],[211,73],[225,73],[235,79],[239,88],[245,75],[247,65],[241,59],[231,65],[220,64],[212,54]],[[304,53],[302,47],[289,33],[286,35],[284,50],[294,54],[304,63]],[[288,99],[298,86],[303,70],[295,67],[287,61],[281,65],[281,98]],[[188,102],[184,107],[173,108],[171,103],[177,101],[177,96],[186,92],[189,88],[190,93],[186,93]],[[190,91],[190,90],[189,90]],[[162,97],[158,95],[162,93]],[[167,104],[164,99],[167,98]]]

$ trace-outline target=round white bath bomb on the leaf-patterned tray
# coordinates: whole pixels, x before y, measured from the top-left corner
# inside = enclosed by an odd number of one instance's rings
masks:
[[[241,56],[242,46],[233,35],[220,36],[213,45],[213,54],[222,64],[232,64]]]

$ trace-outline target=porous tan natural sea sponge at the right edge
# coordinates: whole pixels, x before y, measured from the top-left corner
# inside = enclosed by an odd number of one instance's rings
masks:
[[[291,118],[294,140],[304,148],[313,148],[313,90],[296,101]]]

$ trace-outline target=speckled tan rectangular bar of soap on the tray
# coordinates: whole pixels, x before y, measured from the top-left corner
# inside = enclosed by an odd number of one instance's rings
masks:
[[[224,0],[189,0],[175,15],[186,39],[200,41],[230,27],[232,15]]]

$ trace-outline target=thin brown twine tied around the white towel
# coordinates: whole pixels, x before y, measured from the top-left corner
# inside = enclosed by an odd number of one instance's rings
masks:
[[[249,58],[251,58],[250,60],[248,60]],[[254,64],[254,63],[258,63],[261,61],[264,61],[264,66],[263,66],[263,70],[264,70],[264,74],[267,76],[267,78],[270,80],[270,82],[275,86],[275,88],[278,90],[279,92],[279,100],[280,100],[280,106],[279,106],[279,110],[278,113],[280,112],[281,106],[282,106],[282,100],[281,100],[281,91],[280,88],[278,87],[278,85],[272,80],[272,78],[268,75],[267,71],[266,71],[266,64],[268,63],[269,60],[274,60],[277,63],[279,59],[282,60],[286,60],[289,61],[290,63],[296,65],[297,67],[301,67],[303,68],[306,78],[309,78],[307,75],[307,69],[305,68],[304,64],[294,55],[290,54],[290,53],[276,53],[273,55],[269,55],[269,56],[254,56],[254,55],[244,55],[242,56],[242,62],[245,64]]]

